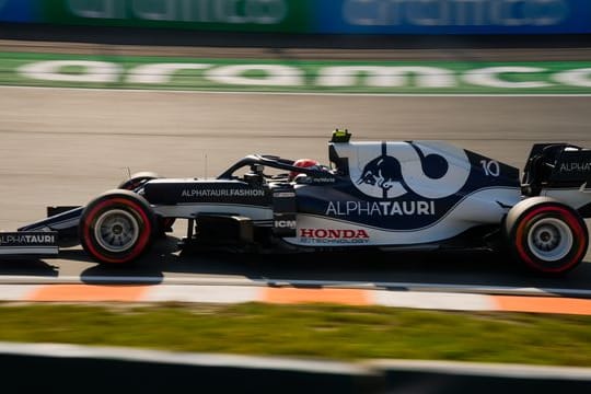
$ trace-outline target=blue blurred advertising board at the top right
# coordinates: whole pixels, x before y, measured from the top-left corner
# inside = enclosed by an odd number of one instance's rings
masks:
[[[320,33],[591,33],[589,0],[332,0],[317,11]]]

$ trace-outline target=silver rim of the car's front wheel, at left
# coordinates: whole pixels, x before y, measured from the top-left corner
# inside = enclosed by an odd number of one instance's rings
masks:
[[[125,252],[131,248],[139,237],[138,220],[123,209],[108,210],[96,219],[94,237],[99,245],[108,252]]]

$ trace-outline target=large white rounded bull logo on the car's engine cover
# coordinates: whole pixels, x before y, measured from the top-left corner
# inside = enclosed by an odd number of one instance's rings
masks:
[[[471,164],[464,150],[439,142],[382,142],[335,147],[349,159],[356,187],[376,198],[396,198],[414,193],[424,198],[443,198],[466,183]],[[351,149],[352,148],[352,149]]]

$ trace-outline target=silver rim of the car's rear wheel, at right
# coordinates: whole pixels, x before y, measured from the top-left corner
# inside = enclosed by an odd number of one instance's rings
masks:
[[[528,234],[528,246],[532,254],[546,262],[564,258],[572,248],[572,232],[567,223],[555,218],[536,221]]]

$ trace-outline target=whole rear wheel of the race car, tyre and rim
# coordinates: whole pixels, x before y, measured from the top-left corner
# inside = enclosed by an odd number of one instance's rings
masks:
[[[532,197],[515,205],[505,222],[513,256],[544,275],[561,275],[583,259],[589,233],[581,216],[549,197]]]

